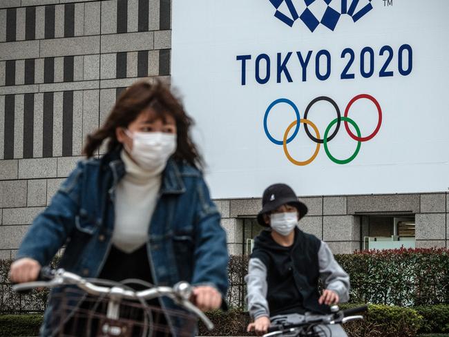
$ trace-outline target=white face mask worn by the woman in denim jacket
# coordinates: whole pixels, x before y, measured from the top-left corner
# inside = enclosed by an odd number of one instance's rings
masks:
[[[133,139],[133,149],[126,150],[133,160],[145,170],[162,171],[169,157],[176,151],[176,134],[162,132],[135,132],[125,130]]]

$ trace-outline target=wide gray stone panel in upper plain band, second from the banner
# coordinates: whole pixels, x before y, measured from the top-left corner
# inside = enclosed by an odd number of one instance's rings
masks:
[[[131,32],[102,36],[102,52],[127,52],[153,49],[153,32]]]

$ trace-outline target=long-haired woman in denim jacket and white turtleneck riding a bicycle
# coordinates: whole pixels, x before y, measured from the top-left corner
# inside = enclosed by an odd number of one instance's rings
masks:
[[[189,137],[191,124],[162,84],[142,81],[125,90],[104,126],[88,137],[87,159],[33,222],[11,280],[35,280],[66,244],[60,267],[84,278],[155,285],[187,280],[195,286],[195,305],[220,307],[227,291],[226,236]],[[106,154],[96,158],[105,142]],[[160,304],[174,308],[167,298]],[[51,305],[46,317],[50,312]]]

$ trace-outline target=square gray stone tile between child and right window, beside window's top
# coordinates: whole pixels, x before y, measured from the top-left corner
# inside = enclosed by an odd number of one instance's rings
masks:
[[[354,240],[353,228],[352,215],[323,216],[323,240],[325,241]]]

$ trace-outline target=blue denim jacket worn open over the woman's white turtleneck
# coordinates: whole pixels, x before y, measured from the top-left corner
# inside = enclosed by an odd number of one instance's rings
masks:
[[[115,188],[124,174],[120,151],[79,162],[33,222],[17,258],[33,258],[44,266],[66,244],[59,267],[84,278],[97,277],[111,248]],[[198,169],[173,159],[167,162],[146,246],[155,285],[187,280],[216,287],[225,296],[226,235]],[[175,309],[169,298],[160,302]],[[51,310],[50,304],[46,319]],[[172,329],[180,325],[167,318]],[[49,331],[41,333],[48,336]]]

